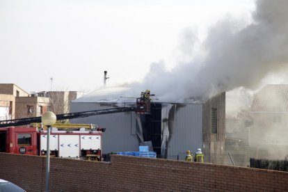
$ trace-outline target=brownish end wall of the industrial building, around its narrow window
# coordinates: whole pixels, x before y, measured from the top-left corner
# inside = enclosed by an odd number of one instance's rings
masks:
[[[211,133],[211,109],[217,109],[217,134]],[[225,146],[225,93],[203,105],[203,151],[205,162],[222,163]]]

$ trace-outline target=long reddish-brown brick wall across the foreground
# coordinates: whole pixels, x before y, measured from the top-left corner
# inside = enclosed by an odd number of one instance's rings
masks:
[[[113,155],[111,163],[51,158],[51,191],[287,191],[288,173]],[[0,178],[44,191],[45,158],[0,153]]]

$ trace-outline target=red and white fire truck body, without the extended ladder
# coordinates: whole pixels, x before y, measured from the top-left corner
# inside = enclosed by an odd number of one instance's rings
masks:
[[[50,133],[51,157],[102,160],[104,129],[95,125],[90,125],[90,129],[81,127],[59,130],[56,127],[52,127]],[[0,128],[0,152],[46,156],[47,131],[38,127]]]

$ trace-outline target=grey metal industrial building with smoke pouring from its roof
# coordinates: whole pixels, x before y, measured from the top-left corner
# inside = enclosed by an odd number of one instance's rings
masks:
[[[130,88],[95,90],[72,101],[71,112],[135,106]],[[202,148],[205,162],[223,161],[225,142],[225,93],[207,101],[169,102],[161,99],[151,104],[151,114],[134,112],[111,113],[72,120],[73,123],[93,123],[106,128],[104,154],[137,151],[139,145],[152,142],[157,157],[180,159],[186,150]]]

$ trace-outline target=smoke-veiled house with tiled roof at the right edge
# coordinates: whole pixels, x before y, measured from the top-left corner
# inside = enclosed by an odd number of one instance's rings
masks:
[[[253,96],[250,115],[250,145],[262,149],[257,156],[284,158],[288,154],[288,85],[267,85],[259,90]]]

